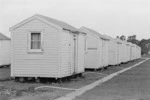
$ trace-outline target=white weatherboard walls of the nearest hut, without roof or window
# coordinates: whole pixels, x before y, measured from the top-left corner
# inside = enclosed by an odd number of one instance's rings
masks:
[[[29,52],[29,33],[41,31],[42,52]],[[12,32],[13,77],[54,77],[61,78],[84,72],[84,37],[77,34],[76,66],[73,66],[73,34],[57,29],[39,19],[33,19]]]

